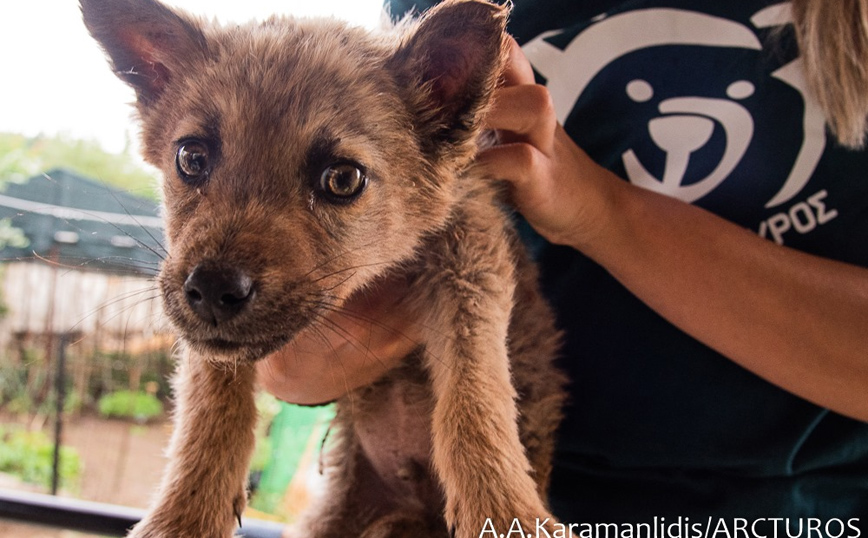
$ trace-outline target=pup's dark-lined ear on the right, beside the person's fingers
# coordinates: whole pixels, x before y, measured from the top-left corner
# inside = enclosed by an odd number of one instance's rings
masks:
[[[506,56],[508,13],[484,0],[443,2],[390,59],[417,132],[432,148],[475,136]]]

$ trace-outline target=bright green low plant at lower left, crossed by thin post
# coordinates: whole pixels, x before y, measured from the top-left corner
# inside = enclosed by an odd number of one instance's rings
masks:
[[[0,426],[0,472],[17,476],[24,482],[51,485],[54,443],[42,432]],[[60,482],[77,489],[81,460],[74,448],[60,448]]]

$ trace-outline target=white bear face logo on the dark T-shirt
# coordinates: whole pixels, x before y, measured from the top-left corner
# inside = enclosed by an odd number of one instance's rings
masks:
[[[756,28],[780,26],[792,21],[788,3],[777,4],[755,14]],[[558,120],[564,122],[582,92],[594,77],[618,58],[661,45],[732,47],[759,51],[762,43],[749,28],[737,22],[678,9],[645,9],[601,18],[577,35],[561,50],[546,38],[561,33],[547,32],[527,43],[523,50],[534,68],[548,80]],[[771,74],[796,89],[805,103],[804,141],[783,187],[766,204],[783,204],[796,196],[808,182],[825,149],[825,123],[818,107],[806,98],[806,85],[796,59]],[[625,88],[635,102],[649,101],[653,86],[642,79]],[[751,144],[754,120],[739,101],[755,91],[751,82],[740,80],[717,97],[679,96],[661,101],[659,116],[648,122],[651,140],[666,154],[662,177],[650,173],[633,150],[622,154],[629,180],[638,186],[686,202],[695,202],[717,188],[738,166]],[[716,128],[723,130],[726,147],[720,162],[706,177],[685,183],[691,155],[705,146]]]

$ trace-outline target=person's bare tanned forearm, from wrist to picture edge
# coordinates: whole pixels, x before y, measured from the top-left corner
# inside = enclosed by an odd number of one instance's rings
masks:
[[[609,179],[617,181],[611,218],[573,246],[738,364],[868,421],[868,269],[778,246],[614,177],[601,181]]]

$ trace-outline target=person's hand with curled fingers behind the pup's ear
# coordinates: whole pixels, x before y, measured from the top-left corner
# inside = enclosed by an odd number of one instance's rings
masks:
[[[622,183],[594,163],[556,119],[548,90],[534,81],[518,43],[486,123],[501,144],[481,152],[477,166],[509,183],[512,202],[553,243],[583,247],[608,222],[611,198]]]

